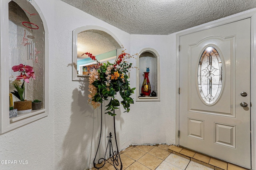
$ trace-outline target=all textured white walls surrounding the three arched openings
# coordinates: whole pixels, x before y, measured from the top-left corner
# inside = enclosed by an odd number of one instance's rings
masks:
[[[160,55],[161,101],[135,102],[129,113],[117,111],[119,150],[131,144],[174,143],[175,36],[130,35],[60,0],[35,0],[47,21],[50,41],[49,116],[0,135],[0,159],[28,160],[26,165],[2,165],[0,169],[86,169],[98,145],[100,111],[87,104],[88,82],[72,81],[72,30],[98,25],[111,31],[127,49],[138,53],[153,48]],[[132,51],[130,50],[132,49]],[[133,66],[136,60],[132,59]],[[169,64],[166,64],[169,63]],[[136,86],[136,70],[130,84]],[[173,107],[172,107],[173,106]],[[112,129],[112,117],[104,115],[100,153]],[[105,133],[106,132],[106,133]]]

